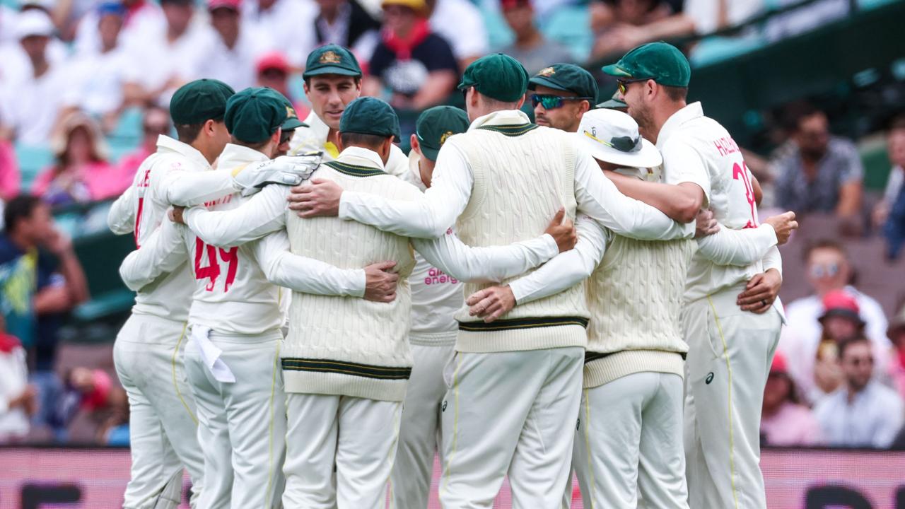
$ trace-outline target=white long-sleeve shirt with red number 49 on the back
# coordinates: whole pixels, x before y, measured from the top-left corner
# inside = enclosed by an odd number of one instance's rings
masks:
[[[230,144],[220,156],[217,171],[263,160],[267,156],[262,152]],[[249,199],[230,194],[205,208],[229,210]],[[365,292],[363,270],[341,270],[292,255],[285,232],[224,248],[207,244],[185,226],[169,221],[126,257],[119,272],[130,288],[141,288],[186,258],[193,262],[195,279],[189,322],[220,333],[259,334],[282,325],[281,292],[271,281],[305,293],[360,297]]]

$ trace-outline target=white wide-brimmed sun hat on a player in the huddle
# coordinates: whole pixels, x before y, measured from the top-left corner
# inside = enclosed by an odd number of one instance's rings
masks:
[[[590,110],[581,118],[575,136],[595,159],[629,168],[662,164],[660,150],[643,139],[638,122],[618,110]]]

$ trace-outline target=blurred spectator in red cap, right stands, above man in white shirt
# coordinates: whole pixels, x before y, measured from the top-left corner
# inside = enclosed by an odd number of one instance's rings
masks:
[[[839,345],[864,334],[865,324],[859,311],[858,302],[844,290],[831,290],[824,295],[824,314],[818,319],[823,331],[814,357],[814,387],[810,388],[808,397],[811,401],[823,398],[843,384]]]

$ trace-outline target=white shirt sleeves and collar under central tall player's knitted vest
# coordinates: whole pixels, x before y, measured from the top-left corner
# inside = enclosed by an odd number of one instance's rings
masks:
[[[495,111],[474,120],[469,130],[484,125],[520,125],[528,121],[528,117],[519,110]],[[550,136],[565,135],[550,130]],[[575,157],[575,197],[579,213],[590,216],[619,235],[640,240],[669,240],[694,234],[693,226],[676,223],[653,206],[620,193],[600,173],[594,158],[578,144]],[[443,235],[468,205],[473,179],[472,168],[462,150],[454,143],[445,143],[437,157],[431,187],[424,192],[424,199],[403,202],[346,191],[339,202],[339,217],[397,235],[434,238]]]

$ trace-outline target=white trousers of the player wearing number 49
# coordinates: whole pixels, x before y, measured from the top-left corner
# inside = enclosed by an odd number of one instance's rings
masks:
[[[198,342],[186,347],[186,371],[198,405],[198,443],[205,455],[199,509],[279,507],[284,479],[286,399],[280,369],[280,331],[256,336],[212,332],[233,372],[214,379]]]

